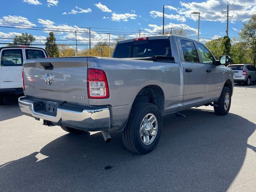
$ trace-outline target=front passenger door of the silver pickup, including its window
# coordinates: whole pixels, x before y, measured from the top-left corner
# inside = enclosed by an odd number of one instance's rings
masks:
[[[218,98],[222,91],[223,66],[217,66],[211,52],[202,44],[196,43],[199,50],[201,63],[205,65],[206,88],[203,100]]]

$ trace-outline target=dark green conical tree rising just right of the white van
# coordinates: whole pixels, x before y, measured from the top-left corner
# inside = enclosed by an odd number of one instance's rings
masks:
[[[49,33],[49,37],[46,37],[45,49],[50,57],[59,57],[60,51],[56,44],[56,37],[53,32]]]

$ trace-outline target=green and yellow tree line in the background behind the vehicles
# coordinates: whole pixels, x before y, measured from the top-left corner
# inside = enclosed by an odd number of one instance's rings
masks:
[[[184,35],[182,30],[175,32],[181,36]],[[238,33],[238,38],[230,39],[228,36],[206,42],[215,58],[221,55],[229,55],[233,64],[250,63],[256,66],[256,14],[247,21],[243,22],[243,27]],[[125,39],[126,36],[119,36],[115,42]],[[32,34],[22,33],[15,36],[13,42],[8,46],[30,46],[36,39]],[[76,53],[71,46],[57,45],[56,37],[53,32],[49,33],[46,38],[45,49],[50,57],[70,57],[70,56],[109,56],[109,46],[107,42],[98,42],[92,49],[82,49]],[[114,46],[110,46],[110,52],[114,51]]]

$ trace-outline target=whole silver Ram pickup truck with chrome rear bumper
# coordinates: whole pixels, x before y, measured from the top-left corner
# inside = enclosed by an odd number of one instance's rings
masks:
[[[210,105],[229,112],[234,74],[204,44],[162,35],[122,40],[113,58],[70,57],[23,63],[23,114],[67,132],[122,132],[128,150],[152,151],[161,135],[162,116]],[[200,118],[200,117],[198,117]]]

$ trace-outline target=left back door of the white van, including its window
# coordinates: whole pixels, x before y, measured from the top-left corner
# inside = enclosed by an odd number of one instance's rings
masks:
[[[3,48],[0,57],[0,88],[22,88],[22,48]]]

